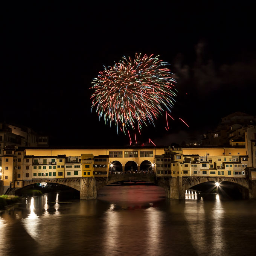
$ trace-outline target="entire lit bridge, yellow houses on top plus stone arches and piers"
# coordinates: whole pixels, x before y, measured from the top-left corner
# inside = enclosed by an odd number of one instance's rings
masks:
[[[183,186],[196,182],[226,179],[248,187],[256,172],[248,152],[254,154],[254,150],[252,138],[250,151],[239,146],[6,147],[1,177],[5,186],[11,184],[15,189],[40,181],[66,184],[80,190],[84,199],[96,198],[97,188],[111,182],[139,178],[164,187],[169,198],[183,198]],[[154,172],[146,172],[144,177],[145,170]],[[113,176],[116,174],[120,177]],[[178,189],[173,190],[175,187]],[[256,188],[254,192],[250,195],[256,194]]]

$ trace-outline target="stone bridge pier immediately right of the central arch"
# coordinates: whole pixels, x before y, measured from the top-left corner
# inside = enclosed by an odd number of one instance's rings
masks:
[[[165,189],[166,197],[169,199],[184,199],[185,190],[182,186],[182,177],[170,177],[168,189]]]

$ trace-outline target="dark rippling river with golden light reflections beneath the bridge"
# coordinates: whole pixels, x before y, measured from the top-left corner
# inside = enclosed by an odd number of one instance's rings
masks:
[[[256,254],[256,200],[186,198],[143,184],[27,198],[0,212],[0,255]]]

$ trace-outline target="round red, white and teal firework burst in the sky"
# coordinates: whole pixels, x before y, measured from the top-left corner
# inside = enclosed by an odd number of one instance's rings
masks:
[[[158,56],[136,53],[135,59],[123,57],[113,67],[104,66],[92,82],[92,108],[106,124],[114,122],[123,131],[154,124],[164,108],[171,111],[176,96],[175,80],[166,65]]]

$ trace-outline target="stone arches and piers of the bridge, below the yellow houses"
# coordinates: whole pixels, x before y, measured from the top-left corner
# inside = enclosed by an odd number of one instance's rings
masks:
[[[173,199],[183,199],[186,190],[200,183],[208,181],[229,181],[241,187],[245,198],[256,198],[255,180],[225,177],[156,177],[154,173],[109,174],[108,177],[32,179],[23,181],[23,187],[41,182],[57,183],[78,190],[81,199],[96,199],[99,189],[118,181],[151,182],[165,189],[166,197]]]

